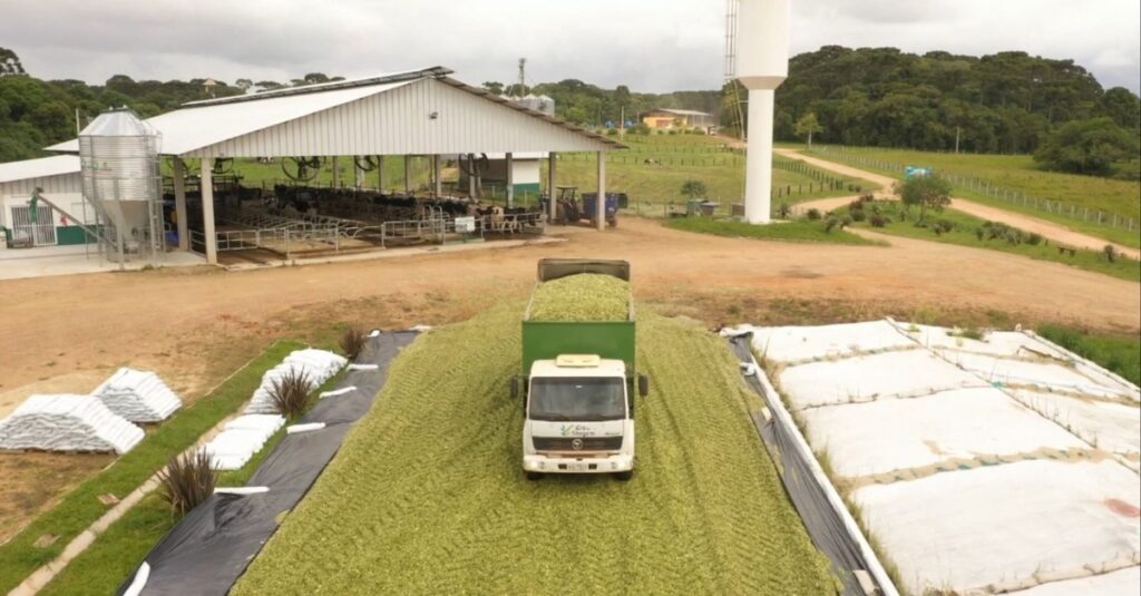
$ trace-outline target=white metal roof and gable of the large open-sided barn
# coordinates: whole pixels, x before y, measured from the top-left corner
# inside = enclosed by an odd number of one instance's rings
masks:
[[[147,122],[162,134],[162,153],[168,155],[446,154],[624,148],[624,145],[605,136],[451,79],[447,76],[451,72],[435,66],[385,76],[192,102]],[[79,151],[79,144],[70,140],[52,145],[48,151],[74,153]]]

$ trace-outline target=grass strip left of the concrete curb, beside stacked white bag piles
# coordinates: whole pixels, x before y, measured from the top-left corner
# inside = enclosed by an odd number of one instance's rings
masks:
[[[193,445],[219,420],[249,400],[266,370],[280,363],[290,352],[302,347],[305,345],[298,341],[274,344],[210,395],[149,432],[138,446],[80,484],[59,505],[40,515],[9,542],[0,546],[0,593],[11,590],[37,567],[57,557],[67,542],[106,513],[107,507],[97,499],[99,494],[111,493],[120,498],[129,494],[165,466],[171,456]],[[59,538],[47,548],[33,546],[44,534]]]

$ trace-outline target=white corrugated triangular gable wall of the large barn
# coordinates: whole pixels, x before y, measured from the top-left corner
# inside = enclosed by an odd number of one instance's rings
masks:
[[[614,147],[446,82],[426,79],[187,155],[408,155],[610,148]]]

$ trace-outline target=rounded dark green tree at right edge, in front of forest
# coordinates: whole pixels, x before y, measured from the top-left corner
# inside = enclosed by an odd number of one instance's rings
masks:
[[[1034,153],[1034,161],[1051,170],[1106,176],[1115,161],[1134,160],[1136,155],[1136,135],[1102,116],[1061,127]]]

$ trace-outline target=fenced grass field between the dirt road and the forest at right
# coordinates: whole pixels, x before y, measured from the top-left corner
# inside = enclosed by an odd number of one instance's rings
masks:
[[[1010,211],[1031,215],[1050,222],[1055,222],[1073,229],[1112,240],[1130,247],[1141,247],[1141,228],[1133,231],[1083,222],[1081,214],[1089,208],[1093,214],[1104,211],[1109,217],[1133,218],[1141,225],[1141,183],[1077,176],[1044,171],[1036,168],[1029,155],[976,155],[931,153],[923,151],[888,150],[868,147],[822,147],[812,151],[814,155],[852,163],[863,169],[877,171],[896,178],[900,177],[898,169],[887,169],[882,164],[931,167],[937,172],[970,176],[989,182],[1001,188],[1026,194],[1042,200],[1060,201],[1063,211],[1074,206],[1078,217],[1069,217],[1057,212],[1037,209],[1030,204],[995,199],[964,185],[955,186],[955,195],[971,199],[980,203],[1000,207]],[[868,163],[863,160],[873,160]]]

